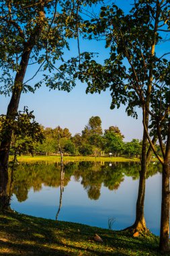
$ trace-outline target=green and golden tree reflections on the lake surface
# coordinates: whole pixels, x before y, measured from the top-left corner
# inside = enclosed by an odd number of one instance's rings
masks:
[[[81,181],[84,189],[90,199],[99,199],[101,186],[108,187],[110,190],[116,190],[124,181],[124,177],[138,179],[140,164],[133,162],[69,162],[64,166],[65,187],[71,181]],[[159,171],[159,164],[151,164],[147,177]],[[25,201],[28,198],[28,191],[33,188],[34,191],[40,191],[42,185],[49,187],[60,187],[60,164],[19,164],[13,172],[13,183],[11,183],[11,192],[15,194],[18,201]]]

